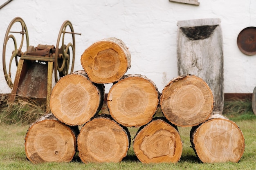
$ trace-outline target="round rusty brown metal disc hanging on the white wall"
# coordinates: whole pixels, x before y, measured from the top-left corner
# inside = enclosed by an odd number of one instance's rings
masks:
[[[250,26],[243,29],[237,37],[237,45],[240,51],[246,55],[256,54],[256,27]]]

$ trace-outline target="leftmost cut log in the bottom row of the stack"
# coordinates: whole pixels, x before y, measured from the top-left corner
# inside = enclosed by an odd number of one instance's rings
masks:
[[[70,162],[76,153],[77,126],[67,126],[52,113],[38,118],[29,126],[25,152],[32,163]]]

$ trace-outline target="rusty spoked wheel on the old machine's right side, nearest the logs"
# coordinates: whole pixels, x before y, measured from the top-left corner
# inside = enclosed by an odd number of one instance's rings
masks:
[[[72,35],[71,37],[72,42],[69,42],[69,43],[65,42],[66,33]],[[76,33],[74,33],[74,29],[71,22],[66,20],[61,26],[60,32],[58,34],[57,44],[56,44],[55,59],[54,59],[55,82],[57,82],[58,79],[63,77],[64,75],[72,73],[74,70],[74,61],[75,61],[74,34]]]

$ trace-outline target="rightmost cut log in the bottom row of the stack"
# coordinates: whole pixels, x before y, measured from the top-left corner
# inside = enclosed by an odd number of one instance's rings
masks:
[[[233,121],[222,115],[191,129],[191,144],[203,163],[238,162],[245,151],[245,138]]]

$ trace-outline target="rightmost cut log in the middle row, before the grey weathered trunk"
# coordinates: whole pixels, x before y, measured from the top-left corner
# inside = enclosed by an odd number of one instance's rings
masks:
[[[196,126],[206,121],[213,111],[213,94],[203,79],[181,75],[163,89],[160,106],[164,116],[180,127]]]

